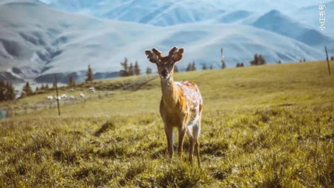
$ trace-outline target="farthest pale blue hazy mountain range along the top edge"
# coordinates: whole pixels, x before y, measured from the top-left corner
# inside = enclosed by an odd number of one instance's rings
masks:
[[[314,6],[314,1],[270,1],[270,0],[40,0],[51,7],[74,13],[89,14],[96,17],[121,19],[127,21],[139,21],[144,17],[166,19],[179,10],[179,15],[197,17],[205,20],[205,17],[214,18],[217,10],[237,11],[246,10],[263,14],[268,10],[277,9],[281,12],[289,12],[300,7]],[[119,14],[117,14],[119,13]],[[292,13],[293,14],[293,13]],[[151,15],[151,16],[149,16]],[[134,17],[135,16],[135,17]],[[156,16],[156,17],[155,17]],[[175,14],[173,17],[177,17]],[[152,19],[154,20],[154,19]],[[183,20],[184,21],[184,20]],[[192,21],[189,19],[188,21]],[[182,22],[180,22],[182,23]]]

